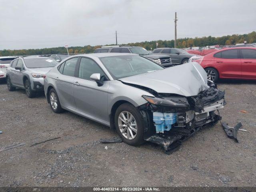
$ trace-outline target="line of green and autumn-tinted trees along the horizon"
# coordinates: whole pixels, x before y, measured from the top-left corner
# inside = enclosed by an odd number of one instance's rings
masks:
[[[196,38],[179,38],[177,39],[178,48],[188,48],[188,47],[204,47],[210,45],[233,45],[237,43],[256,43],[256,32],[253,31],[248,34],[233,34],[222,37],[196,37]],[[157,41],[144,41],[129,43],[131,46],[142,46],[147,50],[156,48],[156,42],[158,42],[158,48],[161,47],[174,47],[174,40],[157,40]],[[111,46],[115,44],[109,44]],[[125,44],[122,44],[125,45]],[[73,46],[68,48],[68,52],[71,54],[78,53],[92,53],[96,48],[101,47],[97,46]],[[0,56],[16,56],[16,55],[46,55],[46,54],[66,54],[67,50],[64,47],[54,47],[54,48],[42,48],[42,49],[21,49],[21,50],[0,50]]]

